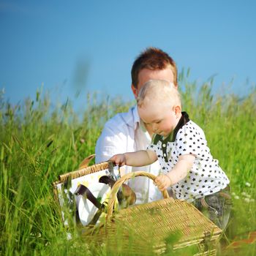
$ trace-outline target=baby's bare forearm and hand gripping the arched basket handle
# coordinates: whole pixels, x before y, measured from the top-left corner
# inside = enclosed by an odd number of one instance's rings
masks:
[[[169,173],[165,175],[159,175],[155,179],[155,184],[159,188],[159,190],[163,191],[178,181],[181,181],[187,176],[189,170],[191,170],[193,163],[195,161],[195,156],[192,154],[185,154],[178,157],[178,162],[173,167]]]

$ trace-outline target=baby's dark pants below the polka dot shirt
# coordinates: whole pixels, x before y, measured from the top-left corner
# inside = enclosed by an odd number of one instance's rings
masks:
[[[208,219],[211,219],[218,227],[225,230],[230,219],[232,206],[230,187],[228,185],[225,189],[205,197],[200,197],[192,203]]]

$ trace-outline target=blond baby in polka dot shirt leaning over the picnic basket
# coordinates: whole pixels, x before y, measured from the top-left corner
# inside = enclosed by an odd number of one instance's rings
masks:
[[[163,191],[170,187],[178,199],[194,205],[222,229],[230,215],[229,179],[211,156],[203,130],[181,112],[177,89],[165,80],[149,80],[137,98],[143,123],[154,131],[146,151],[116,154],[116,165],[144,166],[159,160],[155,179]]]

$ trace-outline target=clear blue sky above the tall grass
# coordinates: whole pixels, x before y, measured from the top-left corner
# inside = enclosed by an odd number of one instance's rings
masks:
[[[244,94],[256,82],[255,1],[1,1],[0,89],[13,104],[44,84],[83,105],[87,91],[133,99],[130,69],[162,48],[190,80],[215,75]],[[79,94],[79,96],[78,96]]]

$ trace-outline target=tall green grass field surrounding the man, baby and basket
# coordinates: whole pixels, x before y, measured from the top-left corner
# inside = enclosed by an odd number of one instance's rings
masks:
[[[204,129],[211,153],[230,178],[233,213],[222,238],[227,246],[256,230],[256,91],[243,98],[225,93],[213,97],[212,81],[199,85],[180,80],[183,109]],[[70,102],[53,105],[41,91],[15,106],[4,94],[0,97],[0,255],[112,255],[104,246],[87,244],[77,227],[71,227],[72,239],[67,240],[51,184],[94,154],[105,121],[134,102],[99,102],[91,94],[81,118]],[[256,255],[255,243],[219,254],[235,252]]]

